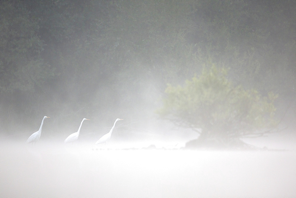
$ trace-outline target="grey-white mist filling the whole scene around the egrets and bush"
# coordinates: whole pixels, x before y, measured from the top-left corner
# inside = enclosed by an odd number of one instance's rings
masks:
[[[294,197],[295,8],[0,1],[0,196]],[[159,113],[168,84],[210,64],[235,86],[278,95],[276,127],[239,138],[252,149],[190,150],[200,132]],[[26,144],[44,116],[40,139]],[[83,118],[78,140],[64,144]],[[95,145],[117,118],[107,145]]]

